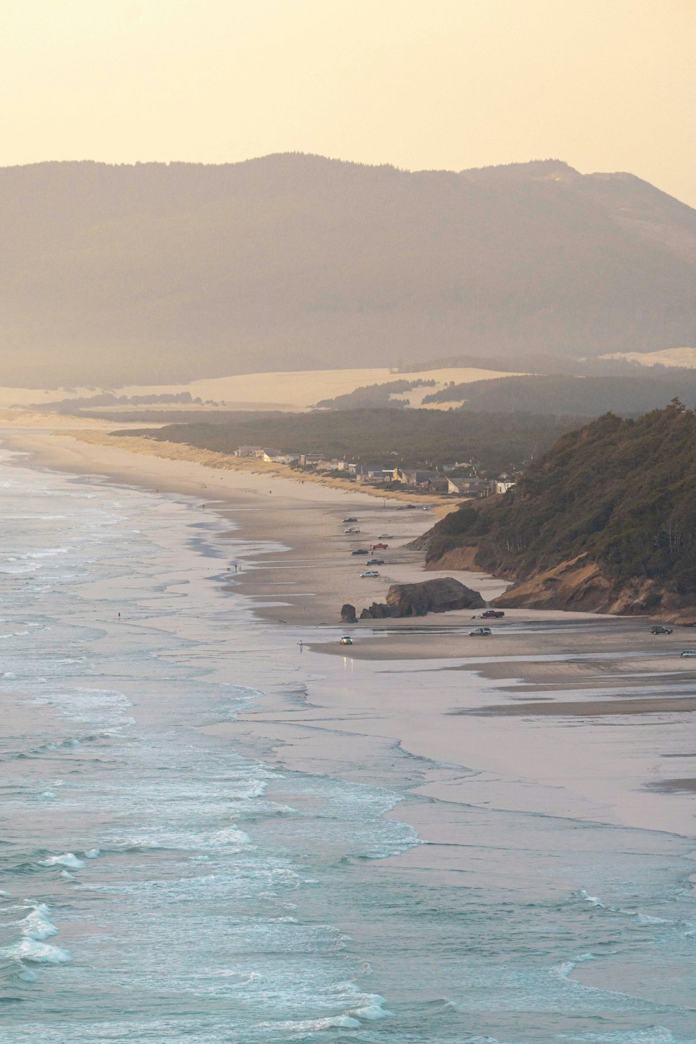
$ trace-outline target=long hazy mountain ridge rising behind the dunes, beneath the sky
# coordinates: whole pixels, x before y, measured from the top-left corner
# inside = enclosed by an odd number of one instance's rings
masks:
[[[42,163],[0,186],[0,383],[696,343],[696,211],[630,174],[288,153]]]

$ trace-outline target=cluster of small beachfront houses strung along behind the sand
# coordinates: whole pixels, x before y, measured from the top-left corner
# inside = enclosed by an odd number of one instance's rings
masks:
[[[313,467],[316,471],[342,472],[359,484],[399,484],[402,489],[425,493],[451,494],[464,497],[489,497],[495,493],[506,493],[514,481],[507,475],[500,478],[451,477],[451,472],[461,470],[458,462],[445,465],[441,470],[424,468],[385,468],[361,461],[340,460],[326,457],[321,453],[281,453],[264,446],[240,446],[235,456],[247,457],[273,464],[297,464],[303,468]]]

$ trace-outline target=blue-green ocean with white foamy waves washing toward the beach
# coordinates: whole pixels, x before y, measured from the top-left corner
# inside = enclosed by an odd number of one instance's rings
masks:
[[[0,451],[2,1044],[696,1042],[692,841],[460,808],[431,872],[436,765],[206,729],[321,684],[229,530]]]

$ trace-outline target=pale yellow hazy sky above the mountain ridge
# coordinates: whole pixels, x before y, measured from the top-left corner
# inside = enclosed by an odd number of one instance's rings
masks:
[[[558,157],[696,206],[696,0],[0,0],[0,165]]]

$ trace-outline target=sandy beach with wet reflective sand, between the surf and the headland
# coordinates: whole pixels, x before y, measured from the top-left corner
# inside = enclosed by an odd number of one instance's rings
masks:
[[[210,727],[215,735],[243,742],[253,734],[279,763],[301,770],[332,770],[346,743],[391,742],[440,766],[414,793],[450,809],[490,806],[694,836],[689,772],[696,778],[696,744],[683,726],[696,701],[677,690],[694,691],[696,674],[676,656],[693,643],[689,636],[655,640],[646,620],[560,611],[506,611],[485,640],[467,635],[471,610],[417,623],[341,624],[340,606],[353,598],[339,590],[355,592],[359,609],[383,600],[388,583],[438,575],[424,572],[421,552],[399,547],[431,524],[421,512],[283,476],[269,487],[267,474],[219,474],[63,434],[16,432],[7,443],[30,453],[31,467],[192,497],[235,526],[227,536],[246,550],[242,571],[223,588],[242,594],[260,621],[285,624],[284,645],[303,638],[313,682],[299,710],[278,692],[236,722]],[[370,538],[383,520],[397,537],[375,587],[358,578],[347,553],[353,538],[341,518],[353,511]],[[505,586],[482,574],[459,576],[485,588],[486,600]],[[343,631],[356,638],[347,655],[337,644]],[[642,694],[646,686],[654,691]],[[635,732],[644,722],[648,749]],[[673,757],[685,759],[678,773],[667,760]],[[437,834],[443,808],[433,807],[426,822],[422,806],[390,814],[404,822],[415,815],[429,839],[428,822]]]

